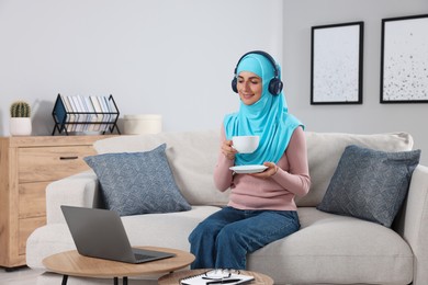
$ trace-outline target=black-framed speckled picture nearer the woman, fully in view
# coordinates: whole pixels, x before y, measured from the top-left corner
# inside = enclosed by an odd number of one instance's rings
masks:
[[[311,104],[362,104],[364,23],[312,27]]]

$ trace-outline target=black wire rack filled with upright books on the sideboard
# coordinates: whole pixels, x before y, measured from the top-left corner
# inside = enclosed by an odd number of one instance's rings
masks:
[[[113,95],[110,96],[65,96],[58,94],[52,112],[56,130],[59,134],[111,134],[117,127],[119,109]]]

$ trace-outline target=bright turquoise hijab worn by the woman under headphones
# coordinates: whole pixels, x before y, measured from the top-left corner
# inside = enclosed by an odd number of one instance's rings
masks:
[[[277,65],[277,68],[281,77],[280,66]],[[249,54],[240,60],[236,75],[241,71],[250,71],[261,78],[262,93],[255,104],[246,105],[240,102],[239,112],[225,116],[226,139],[232,139],[233,136],[256,135],[260,136],[260,144],[252,153],[237,153],[235,166],[262,164],[266,161],[278,163],[289,146],[294,129],[304,126],[289,114],[282,92],[279,95],[269,92],[274,68],[268,58],[259,54]]]

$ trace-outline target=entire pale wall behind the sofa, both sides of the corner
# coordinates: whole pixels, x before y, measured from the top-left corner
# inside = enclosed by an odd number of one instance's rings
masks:
[[[218,128],[238,106],[237,59],[266,49],[308,130],[409,132],[428,164],[428,105],[379,103],[381,20],[423,13],[426,0],[0,0],[0,135],[15,99],[50,134],[57,93],[112,93],[122,115],[159,113],[167,132]],[[363,104],[311,105],[311,26],[351,21],[364,21]]]

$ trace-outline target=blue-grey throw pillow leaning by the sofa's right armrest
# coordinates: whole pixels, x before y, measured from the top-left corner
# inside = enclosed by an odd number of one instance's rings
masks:
[[[391,227],[419,157],[420,150],[385,152],[348,146],[317,208]]]

